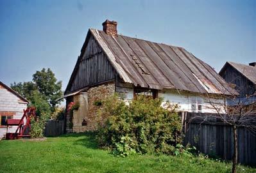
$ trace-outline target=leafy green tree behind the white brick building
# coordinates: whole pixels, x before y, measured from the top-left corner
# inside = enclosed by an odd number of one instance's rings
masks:
[[[30,101],[31,105],[37,107],[37,115],[53,112],[58,103],[57,98],[62,96],[62,82],[57,81],[55,74],[49,68],[42,68],[33,74],[33,82],[14,82],[11,84],[13,90]]]

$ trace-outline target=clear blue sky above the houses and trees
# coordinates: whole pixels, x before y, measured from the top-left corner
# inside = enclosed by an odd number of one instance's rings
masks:
[[[0,1],[0,80],[49,67],[63,90],[89,28],[184,47],[219,71],[256,61],[256,1]]]

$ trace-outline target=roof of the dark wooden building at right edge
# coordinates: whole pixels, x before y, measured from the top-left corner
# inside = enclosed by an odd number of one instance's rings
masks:
[[[248,80],[253,82],[253,84],[256,84],[256,67],[255,66],[249,66],[246,64],[239,64],[239,63],[233,63],[233,62],[226,62],[223,68],[221,68],[221,71],[219,71],[219,74],[226,69],[226,66],[232,66],[235,68],[235,70],[239,71],[244,77],[246,77]]]

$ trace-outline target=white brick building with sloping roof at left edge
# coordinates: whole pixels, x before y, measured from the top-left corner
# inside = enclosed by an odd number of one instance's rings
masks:
[[[21,119],[28,103],[26,98],[0,81],[0,139],[7,132],[6,119]],[[13,133],[16,129],[17,126],[11,126],[8,132]]]

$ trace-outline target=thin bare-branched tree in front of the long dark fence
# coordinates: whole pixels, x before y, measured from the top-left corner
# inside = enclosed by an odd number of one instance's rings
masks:
[[[241,97],[235,94],[222,96],[222,98],[225,102],[215,102],[218,98],[208,95],[207,101],[210,105],[207,109],[212,109],[216,113],[208,116],[194,116],[189,121],[192,122],[194,120],[200,120],[201,123],[212,123],[212,119],[214,119],[218,123],[232,126],[234,137],[232,173],[235,173],[237,170],[237,156],[239,154],[237,128],[246,128],[256,135],[256,99],[253,95]]]

